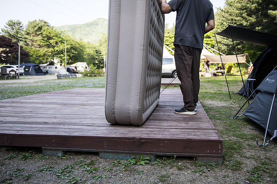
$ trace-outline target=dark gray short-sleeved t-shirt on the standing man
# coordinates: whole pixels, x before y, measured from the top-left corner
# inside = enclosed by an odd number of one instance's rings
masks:
[[[203,49],[205,25],[214,20],[209,0],[171,0],[167,3],[177,11],[174,43]]]

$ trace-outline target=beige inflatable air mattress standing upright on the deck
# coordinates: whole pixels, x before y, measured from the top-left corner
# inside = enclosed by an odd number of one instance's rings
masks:
[[[159,103],[164,15],[156,0],[110,0],[105,115],[140,126]]]

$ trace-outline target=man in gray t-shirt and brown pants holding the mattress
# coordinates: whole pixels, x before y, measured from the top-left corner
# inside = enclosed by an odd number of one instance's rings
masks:
[[[175,109],[175,113],[192,115],[198,102],[204,34],[215,28],[213,5],[209,0],[162,0],[162,13],[171,11],[177,11],[174,58],[184,101],[183,108]]]

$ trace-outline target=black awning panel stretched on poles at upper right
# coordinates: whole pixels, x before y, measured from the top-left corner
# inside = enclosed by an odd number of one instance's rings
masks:
[[[230,34],[230,30],[232,36]],[[235,25],[228,25],[226,29],[217,34],[227,38],[233,38],[234,40],[244,41],[264,47],[274,47],[277,45],[276,35],[261,33]]]

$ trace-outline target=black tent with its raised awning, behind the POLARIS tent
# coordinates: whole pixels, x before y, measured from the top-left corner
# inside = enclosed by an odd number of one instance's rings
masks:
[[[277,36],[234,25],[228,25],[226,29],[217,34],[234,40],[268,47],[257,57],[253,63],[252,72],[248,76],[248,79],[255,79],[249,80],[249,88],[253,92],[262,80],[277,66]],[[243,95],[245,93],[245,89],[248,89],[247,82],[244,83],[244,86],[242,86],[238,94]],[[247,97],[250,94],[251,92],[248,91]],[[253,95],[255,96],[256,94]]]

